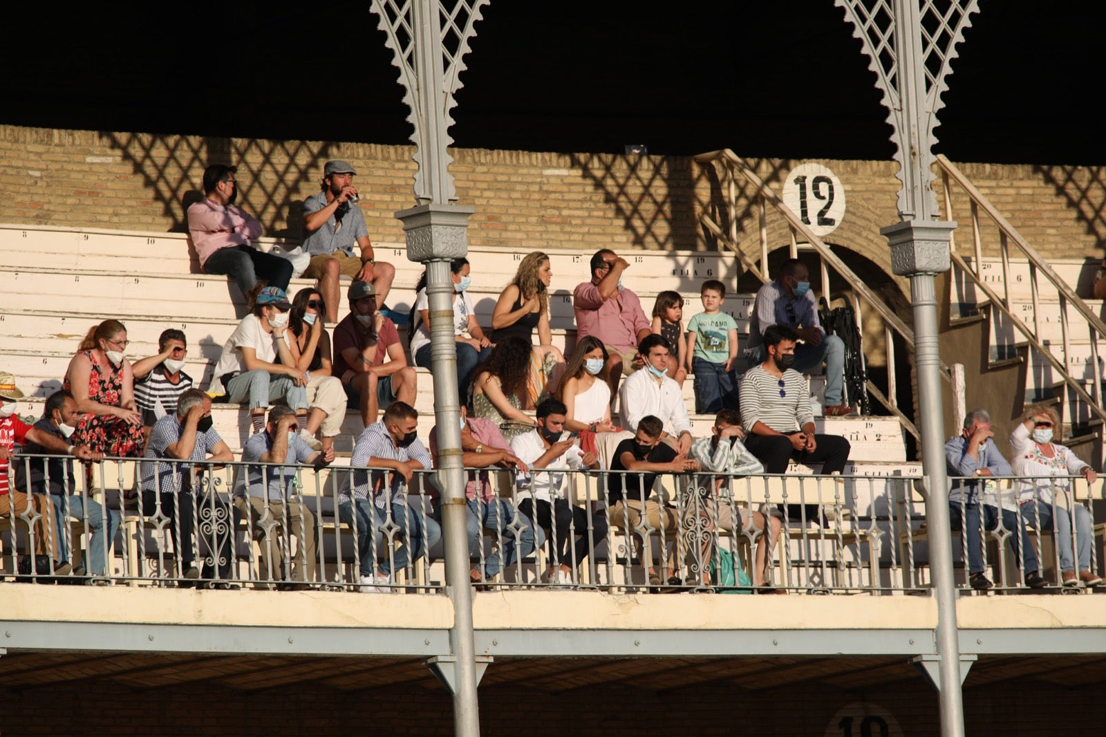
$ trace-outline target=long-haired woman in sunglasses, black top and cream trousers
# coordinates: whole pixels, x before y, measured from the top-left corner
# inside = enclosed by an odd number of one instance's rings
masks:
[[[311,287],[301,289],[292,300],[286,334],[292,361],[307,378],[311,411],[306,426],[300,433],[309,445],[313,445],[317,434],[317,449],[322,450],[334,447],[334,436],[342,432],[346,411],[345,390],[332,371],[331,336],[324,324],[325,314],[322,292]]]

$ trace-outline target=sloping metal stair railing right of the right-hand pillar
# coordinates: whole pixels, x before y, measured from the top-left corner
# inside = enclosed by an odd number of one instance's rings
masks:
[[[1072,417],[1075,413],[1067,412],[1072,407],[1071,397],[1068,393],[1073,394],[1077,399],[1082,408],[1087,413],[1087,416],[1094,415],[1099,421],[1095,423],[1097,427],[1095,428],[1095,435],[1099,439],[1099,445],[1102,445],[1102,422],[1106,421],[1106,408],[1103,408],[1103,386],[1102,386],[1102,369],[1099,367],[1098,361],[1098,341],[1106,336],[1106,323],[1092,310],[1086,302],[1084,302],[1076,293],[1075,290],[1053,269],[1047,259],[1043,258],[1029,242],[1022,238],[1022,236],[1014,229],[1010,222],[999,212],[987,197],[983,196],[979,189],[958,169],[948,158],[943,155],[938,155],[937,157],[938,166],[941,170],[941,181],[942,181],[942,195],[945,204],[945,216],[947,219],[953,219],[952,210],[952,198],[953,198],[953,185],[960,188],[964,196],[968,197],[971,208],[971,235],[972,235],[972,250],[971,250],[971,261],[969,262],[962,252],[957,250],[956,239],[953,237],[951,241],[952,246],[952,268],[953,278],[958,274],[962,274],[971,279],[972,284],[977,290],[985,295],[985,300],[981,300],[981,303],[990,303],[994,309],[999,310],[1003,318],[1013,326],[1013,329],[1021,334],[1029,345],[1036,351],[1048,364],[1052,366],[1053,371],[1060,378],[1061,383],[1061,403],[1065,408],[1065,414],[1067,415],[1067,422],[1072,430],[1074,430],[1076,423],[1072,422]],[[1002,279],[1001,286],[998,291],[992,286],[993,281],[989,283],[983,273],[988,266],[983,261],[983,228],[980,225],[980,214],[982,214],[990,225],[998,230],[999,233],[999,255],[1002,260]],[[990,243],[988,246],[991,246]],[[1014,258],[1024,258],[1029,261],[1029,288],[1030,288],[1030,303],[1032,305],[1031,313],[1026,320],[1023,320],[1018,314],[1018,310],[1014,305],[1014,299],[1011,294],[1011,284],[1014,283],[1011,274],[1011,251],[1013,251]],[[1045,281],[1045,293],[1042,294],[1041,279],[1043,277]],[[1056,300],[1060,305],[1060,330],[1061,330],[1061,341],[1057,346],[1054,341],[1048,340],[1042,330],[1042,310],[1041,302],[1043,299]],[[1068,308],[1072,308],[1078,320],[1084,321],[1084,325],[1077,325],[1072,328],[1070,325]],[[1085,335],[1089,343],[1089,376],[1086,378],[1076,377],[1072,375],[1070,365],[1083,365],[1082,362],[1073,361],[1073,350],[1072,341],[1078,336],[1078,331],[1085,330]],[[1020,342],[1020,341],[1015,341]],[[1054,353],[1056,349],[1060,349],[1058,355]],[[1032,369],[1026,372],[1026,376],[1032,375]],[[1089,384],[1091,391],[1088,392],[1084,384]],[[1100,458],[1099,458],[1100,460]]]

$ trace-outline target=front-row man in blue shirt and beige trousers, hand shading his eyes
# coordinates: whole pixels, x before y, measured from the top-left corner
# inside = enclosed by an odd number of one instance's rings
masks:
[[[250,520],[253,539],[265,541],[258,561],[259,570],[270,579],[286,577],[290,582],[279,587],[284,591],[310,589],[306,582],[315,581],[319,572],[315,516],[302,499],[294,497],[296,465],[314,464],[322,468],[334,460],[334,448],[313,450],[299,435],[299,429],[295,411],[291,407],[279,404],[269,411],[264,432],[246,442],[242,460],[288,465],[248,466],[249,488],[241,489],[234,499],[234,508]],[[285,568],[278,526],[299,541],[291,572]]]

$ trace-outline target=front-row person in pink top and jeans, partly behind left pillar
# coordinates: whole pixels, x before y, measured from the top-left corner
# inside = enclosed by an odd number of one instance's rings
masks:
[[[535,528],[533,521],[515,509],[509,499],[495,494],[489,468],[497,467],[507,470],[518,470],[523,474],[530,470],[503,438],[499,426],[490,419],[469,417],[461,407],[461,463],[465,464],[466,476],[465,498],[468,509],[469,557],[477,562],[469,569],[469,578],[473,583],[493,578],[504,568],[510,568],[517,557],[525,558],[542,544],[542,529]],[[430,456],[434,467],[438,467],[438,427],[430,430]],[[479,468],[480,470],[473,470]],[[431,487],[432,488],[432,487]],[[430,492],[430,504],[434,518],[441,523],[440,495],[436,488]],[[492,533],[499,550],[488,556],[481,567],[480,550],[482,547],[481,528]],[[518,531],[515,531],[518,530]],[[535,539],[536,538],[536,539]]]

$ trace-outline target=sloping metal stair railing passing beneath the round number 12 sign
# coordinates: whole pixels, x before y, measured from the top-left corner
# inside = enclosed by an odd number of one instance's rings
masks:
[[[799,215],[784,205],[783,199],[757,175],[757,173],[743,158],[734,154],[729,148],[726,148],[722,150],[700,154],[695,157],[695,160],[703,166],[714,165],[716,170],[720,173],[722,186],[726,188],[724,201],[729,227],[723,229],[722,225],[717,222],[710,212],[703,212],[700,216],[700,221],[703,227],[719,240],[719,242],[733,251],[747,271],[760,279],[762,283],[771,281],[768,271],[768,231],[769,211],[771,210],[775,215],[783,218],[784,225],[787,228],[791,236],[792,258],[797,257],[799,253],[799,236],[801,236],[806,243],[810,243],[811,248],[813,248],[813,250],[821,257],[822,292],[826,298],[826,302],[831,301],[831,295],[833,293],[830,282],[830,268],[832,267],[837,276],[839,276],[847,284],[847,289],[853,292],[854,304],[852,307],[856,311],[857,321],[859,322],[860,320],[862,304],[868,305],[876,314],[879,315],[884,322],[888,385],[885,394],[884,390],[873,383],[869,378],[867,380],[867,390],[880,405],[898,417],[899,422],[902,423],[902,426],[906,427],[906,429],[920,442],[921,436],[917,426],[898,406],[897,387],[895,382],[896,356],[893,336],[900,336],[906,344],[907,350],[912,351],[914,329],[907,325],[899,316],[899,313],[891,305],[887,304],[887,302],[885,302],[878,293],[873,291],[867,286],[865,280],[860,279],[841,259],[841,257],[834,253],[833,250],[818,236],[816,236],[806,224],[803,222]],[[741,187],[739,187],[739,178],[752,185],[753,191],[739,191],[741,190]],[[751,257],[738,247],[738,224],[742,220],[742,215],[739,212],[739,196],[748,197],[751,206],[754,206],[758,210],[760,225],[759,258]],[[863,335],[863,329],[860,332]],[[948,366],[943,363],[941,364],[941,375],[946,378],[949,377]]]

